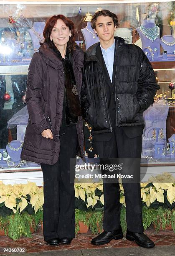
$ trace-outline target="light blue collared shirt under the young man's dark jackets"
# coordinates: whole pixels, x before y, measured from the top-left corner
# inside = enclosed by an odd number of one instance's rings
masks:
[[[100,48],[101,48],[101,51],[102,51],[102,54],[103,54],[104,62],[105,62],[105,64],[106,64],[109,77],[110,77],[111,82],[112,82],[112,73],[113,73],[113,64],[114,64],[115,40],[114,40],[114,43],[112,44],[112,46],[110,46],[109,48],[107,48],[107,50],[103,49],[103,48],[101,47],[101,44],[100,44]]]

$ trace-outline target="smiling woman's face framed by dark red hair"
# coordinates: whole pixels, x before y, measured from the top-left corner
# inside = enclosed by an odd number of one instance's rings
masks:
[[[71,36],[71,31],[69,27],[63,22],[63,20],[58,19],[55,26],[52,28],[52,32],[50,35],[51,41],[58,48],[59,46],[67,46],[67,42]]]

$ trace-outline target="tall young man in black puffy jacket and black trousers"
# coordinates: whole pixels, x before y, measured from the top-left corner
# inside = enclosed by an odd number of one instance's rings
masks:
[[[139,158],[142,151],[143,111],[158,89],[154,71],[143,51],[115,37],[117,16],[109,10],[91,20],[99,36],[86,51],[81,90],[83,118],[91,125],[100,158]],[[140,166],[139,166],[140,168]],[[123,238],[120,226],[119,184],[104,183],[104,232],[94,245]],[[140,183],[124,183],[126,238],[145,248],[154,243],[143,233]]]

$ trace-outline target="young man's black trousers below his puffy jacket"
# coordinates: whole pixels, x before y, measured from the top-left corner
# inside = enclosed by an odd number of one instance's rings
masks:
[[[134,129],[134,127],[131,129]],[[98,135],[97,135],[98,136]],[[94,136],[95,139],[95,136]],[[100,158],[140,158],[142,135],[129,138],[122,127],[115,127],[109,141],[94,141]],[[140,183],[124,183],[127,228],[132,232],[143,232]],[[120,227],[120,193],[118,183],[104,183],[104,220],[105,231]]]

